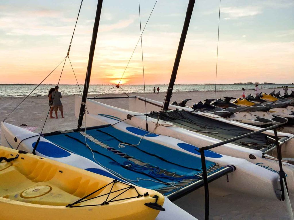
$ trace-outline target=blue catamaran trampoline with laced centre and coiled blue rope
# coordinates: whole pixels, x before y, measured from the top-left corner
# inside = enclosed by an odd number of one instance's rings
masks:
[[[44,138],[95,163],[98,161],[107,170],[134,185],[154,189],[164,195],[201,180],[200,158],[144,138],[139,145],[130,146],[138,144],[141,138],[112,126],[87,129],[86,133],[49,134]],[[207,160],[206,167],[214,172],[223,168]]]

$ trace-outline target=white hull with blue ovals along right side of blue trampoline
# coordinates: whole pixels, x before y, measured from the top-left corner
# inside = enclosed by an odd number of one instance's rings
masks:
[[[87,121],[86,125],[90,127],[95,125],[97,126],[97,124],[106,125],[106,124],[114,124],[118,122],[117,119],[112,119],[108,116],[103,116],[103,115],[86,114],[84,115],[84,117],[86,117],[86,121]],[[142,134],[136,131],[141,129],[130,126],[129,124],[125,122],[117,123],[113,127],[120,131],[130,133],[138,137],[142,137]],[[200,158],[199,153],[197,153],[197,151],[194,150],[196,148],[195,146],[193,146],[193,150],[191,151],[185,150],[179,147],[179,143],[182,143],[182,144],[187,144],[187,143],[180,141],[178,139],[168,137],[168,136],[162,136],[162,135],[151,136],[151,137],[144,136],[143,138]],[[132,144],[137,144],[137,143],[132,143]],[[219,157],[216,157],[214,155],[219,155]],[[236,170],[233,173],[228,174],[229,182],[227,182],[226,178],[222,177],[216,180],[215,182],[210,183],[210,186],[213,186],[215,188],[221,188],[222,190],[227,191],[228,193],[235,191],[235,192],[243,192],[246,194],[251,194],[254,196],[256,195],[259,195],[261,197],[270,196],[271,198],[273,198],[272,196],[274,197],[276,196],[276,195],[273,195],[275,193],[273,192],[273,194],[270,195],[271,193],[268,194],[269,192],[268,190],[272,191],[273,189],[280,188],[280,184],[278,180],[279,175],[277,173],[271,172],[269,170],[265,170],[260,166],[256,166],[255,164],[248,162],[247,160],[240,159],[240,158],[233,158],[230,156],[220,155],[216,153],[213,153],[212,156],[206,155],[206,160],[210,160],[214,163],[218,163],[221,166],[233,165],[236,167]],[[261,186],[267,188],[267,190],[265,190]]]

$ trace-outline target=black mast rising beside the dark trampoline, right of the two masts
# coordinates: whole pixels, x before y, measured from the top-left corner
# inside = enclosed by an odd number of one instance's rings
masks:
[[[185,44],[185,40],[186,40],[188,28],[189,28],[191,16],[192,16],[194,4],[195,4],[195,0],[189,0],[187,12],[186,12],[186,18],[185,18],[179,46],[178,46],[178,51],[176,54],[175,62],[173,64],[173,72],[171,73],[171,79],[169,81],[168,89],[166,92],[166,99],[164,100],[164,106],[163,106],[164,111],[168,110],[168,105],[171,101],[171,94],[173,93],[173,85],[175,84],[175,81],[176,81],[178,67],[180,64],[181,55],[183,52],[183,48],[184,48],[184,44]]]

